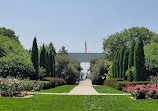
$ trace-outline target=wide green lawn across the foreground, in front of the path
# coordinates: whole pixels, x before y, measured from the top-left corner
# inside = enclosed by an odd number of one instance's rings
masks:
[[[157,111],[158,99],[131,100],[130,96],[34,95],[0,97],[0,111]]]

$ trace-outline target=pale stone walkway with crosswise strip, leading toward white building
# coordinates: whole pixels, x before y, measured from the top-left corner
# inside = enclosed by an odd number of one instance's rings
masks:
[[[29,94],[51,94],[51,95],[131,95],[131,94],[120,94],[120,93],[98,93],[92,87],[92,81],[89,79],[79,82],[79,85],[72,89],[69,93],[40,93],[40,92],[29,92]]]

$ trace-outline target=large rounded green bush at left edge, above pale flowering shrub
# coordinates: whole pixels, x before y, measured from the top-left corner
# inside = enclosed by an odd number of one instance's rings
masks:
[[[33,74],[34,68],[30,58],[24,58],[13,53],[0,58],[0,75],[3,77],[9,75],[14,77],[32,77]]]

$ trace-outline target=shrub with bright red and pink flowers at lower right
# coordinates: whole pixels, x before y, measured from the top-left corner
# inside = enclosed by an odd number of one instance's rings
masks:
[[[139,85],[133,85],[133,84],[127,84],[126,87],[122,87],[123,91],[130,92],[131,95],[135,99],[157,99],[158,98],[158,87],[156,87],[153,84],[139,84]]]

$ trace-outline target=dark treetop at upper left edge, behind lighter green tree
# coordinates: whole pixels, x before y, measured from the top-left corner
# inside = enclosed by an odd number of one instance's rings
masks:
[[[6,29],[5,27],[0,27],[0,35],[7,36],[8,38],[11,38],[15,41],[18,41],[18,36],[15,35],[15,32],[11,29]]]

